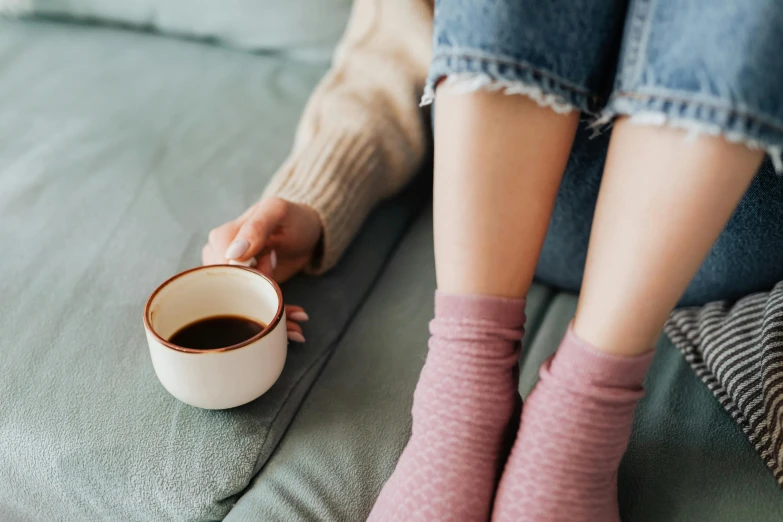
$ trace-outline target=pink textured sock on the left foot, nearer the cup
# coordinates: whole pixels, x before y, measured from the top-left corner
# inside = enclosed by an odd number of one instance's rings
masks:
[[[408,445],[372,522],[485,522],[517,400],[524,299],[435,294]]]

